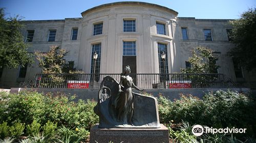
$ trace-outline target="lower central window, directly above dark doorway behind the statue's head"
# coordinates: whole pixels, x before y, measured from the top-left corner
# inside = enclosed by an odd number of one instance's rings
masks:
[[[123,56],[136,56],[135,41],[123,41]]]

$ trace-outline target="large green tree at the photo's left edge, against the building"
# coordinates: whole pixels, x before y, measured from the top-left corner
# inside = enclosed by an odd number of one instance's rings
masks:
[[[17,68],[33,62],[32,54],[27,52],[28,44],[20,30],[23,28],[18,16],[4,18],[4,9],[0,9],[0,66]]]

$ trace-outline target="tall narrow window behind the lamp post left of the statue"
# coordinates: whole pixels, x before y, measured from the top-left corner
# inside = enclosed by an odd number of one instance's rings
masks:
[[[96,52],[98,54],[98,58],[96,61],[93,59],[93,54]],[[100,54],[101,54],[101,43],[92,45],[92,58],[91,58],[91,74],[99,74],[100,71]],[[94,67],[95,65],[95,67]],[[95,68],[95,73],[94,73]],[[91,77],[91,80],[93,77]],[[95,81],[99,81],[99,75],[95,75]]]

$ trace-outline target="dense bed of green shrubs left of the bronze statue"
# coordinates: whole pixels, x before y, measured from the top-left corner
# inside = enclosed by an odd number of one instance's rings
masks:
[[[63,127],[69,130],[71,139],[75,141],[87,139],[91,126],[99,122],[99,117],[93,112],[96,102],[79,100],[75,103],[73,101],[75,96],[60,92],[55,94],[42,94],[35,91],[24,91],[18,94],[0,92],[0,97],[0,123],[5,122],[0,125],[3,127],[1,129],[5,129],[0,130],[3,132],[1,138],[10,136],[8,132],[5,133],[9,129],[7,125],[22,121],[24,123],[22,125],[27,126],[26,135],[33,136],[30,138],[32,142],[33,140],[34,142],[38,140],[53,142],[53,138],[61,139],[62,136],[58,136],[57,131]],[[40,125],[41,130],[39,130]],[[20,127],[14,124],[12,128],[14,132],[14,129]]]

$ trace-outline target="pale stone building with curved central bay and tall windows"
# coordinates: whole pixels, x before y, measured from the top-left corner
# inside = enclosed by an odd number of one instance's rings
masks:
[[[82,18],[24,21],[29,52],[48,52],[51,45],[69,51],[66,62],[85,73],[93,73],[92,54],[98,59],[95,73],[119,74],[130,65],[132,73],[162,72],[160,52],[166,53],[166,72],[179,73],[191,50],[203,45],[214,50],[220,65],[218,73],[234,82],[255,85],[247,73],[227,52],[233,46],[228,37],[232,29],[228,19],[177,17],[178,12],[155,4],[117,2],[100,5],[81,13]],[[159,64],[161,64],[159,66]],[[2,69],[1,86],[17,87],[18,82],[41,73],[37,63],[18,69]]]

